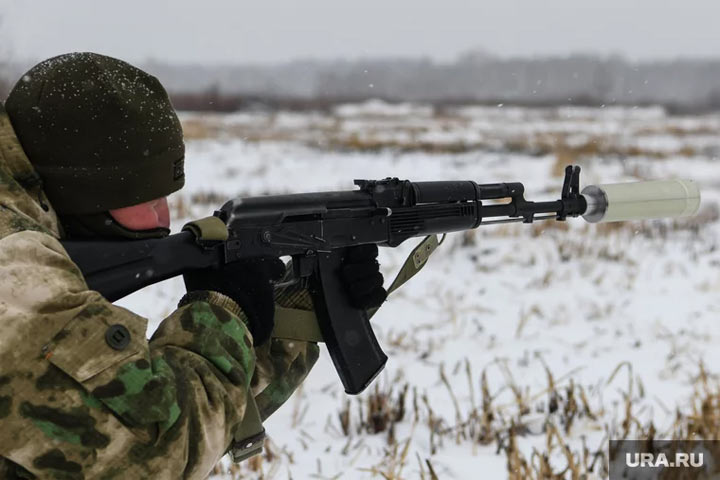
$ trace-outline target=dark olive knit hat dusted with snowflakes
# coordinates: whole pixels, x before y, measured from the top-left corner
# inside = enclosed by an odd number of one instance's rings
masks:
[[[59,214],[136,205],[185,182],[182,127],[167,92],[121,60],[45,60],[23,75],[5,107]]]

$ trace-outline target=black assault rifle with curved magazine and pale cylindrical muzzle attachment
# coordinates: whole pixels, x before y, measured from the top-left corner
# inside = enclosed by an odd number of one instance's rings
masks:
[[[347,393],[367,387],[387,360],[369,312],[353,308],[337,281],[348,247],[396,247],[413,237],[506,222],[589,222],[689,216],[700,192],[690,180],[597,185],[580,191],[580,167],[568,166],[559,200],[525,200],[522,183],[355,180],[352,191],[236,198],[212,217],[163,239],[64,241],[91,289],[115,301],[143,287],[200,268],[261,256],[291,256],[306,281],[317,324]],[[506,199],[506,203],[488,202]],[[434,244],[437,245],[437,241]],[[433,245],[427,243],[427,250]],[[414,252],[419,269],[427,259]],[[407,262],[406,262],[407,263]],[[412,273],[410,274],[412,275]],[[406,277],[409,275],[406,275]]]

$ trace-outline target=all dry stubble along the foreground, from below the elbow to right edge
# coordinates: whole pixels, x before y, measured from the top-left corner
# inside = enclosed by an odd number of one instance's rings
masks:
[[[543,362],[542,357],[536,357],[536,361]],[[504,372],[505,387],[491,390],[488,368]],[[720,381],[702,363],[697,367],[688,408],[678,408],[675,421],[664,427],[646,418],[649,399],[628,362],[618,364],[603,385],[605,389],[620,386],[622,402],[616,406],[605,405],[597,390],[578,385],[572,372],[557,377],[547,366],[544,368],[546,387],[531,392],[515,383],[503,362],[484,368],[476,377],[470,361],[465,360],[454,366],[452,379],[445,366],[441,366],[439,381],[453,405],[452,415],[447,414],[447,409],[440,413],[437,399],[431,400],[427,393],[407,383],[398,386],[396,382],[377,382],[369,393],[354,400],[342,400],[331,422],[339,426],[337,434],[345,438],[341,454],[359,462],[355,471],[369,477],[440,480],[453,478],[448,467],[434,458],[446,448],[455,445],[476,451],[479,447],[491,447],[496,455],[504,457],[510,480],[588,480],[607,478],[613,455],[608,450],[609,439],[650,443],[660,438],[720,439]],[[468,394],[460,400],[455,389],[463,376]],[[507,395],[506,400],[500,401],[508,391],[512,401],[507,401]],[[616,410],[609,421],[608,409]],[[588,437],[583,433],[593,430],[599,434]],[[362,456],[370,452],[364,439],[377,437],[384,439],[381,459],[363,466]],[[530,448],[526,443],[523,445],[529,438],[536,439]],[[213,473],[233,480],[272,479],[281,477],[281,465],[288,466],[289,474],[294,462],[293,454],[268,440],[262,456],[240,465],[220,464]],[[317,470],[314,478],[344,478],[343,472],[323,473],[319,460]],[[720,465],[716,471],[720,471]]]

